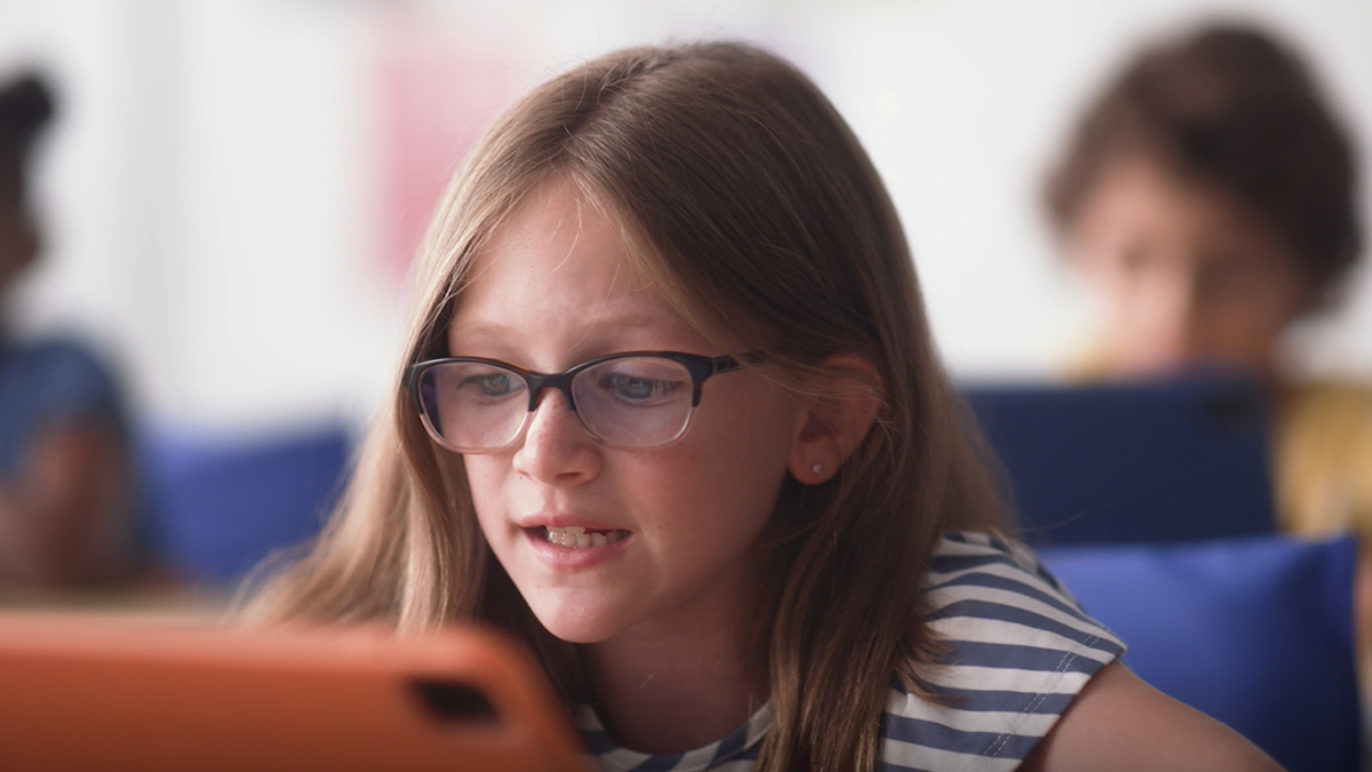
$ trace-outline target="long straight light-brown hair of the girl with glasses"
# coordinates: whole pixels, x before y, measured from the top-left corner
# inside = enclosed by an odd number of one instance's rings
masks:
[[[740,654],[774,716],[760,768],[875,767],[892,673],[918,687],[932,658],[921,616],[930,551],[944,531],[1000,517],[875,169],[815,85],[756,48],[593,60],[530,93],[468,156],[424,248],[406,363],[443,354],[473,254],[553,176],[616,217],[648,276],[707,336],[727,330],[794,376],[834,354],[875,367],[877,425],[837,477],[783,485]],[[584,695],[575,651],[539,627],[493,558],[458,458],[431,443],[399,380],[325,533],[252,612],[401,628],[483,620],[524,638],[568,701]]]

